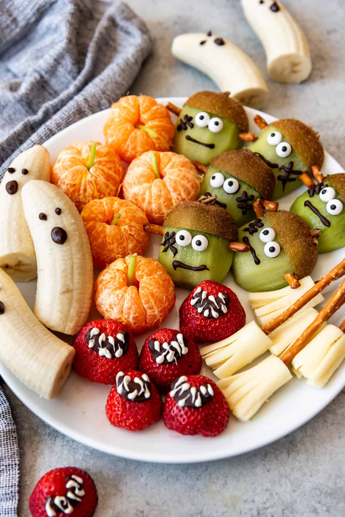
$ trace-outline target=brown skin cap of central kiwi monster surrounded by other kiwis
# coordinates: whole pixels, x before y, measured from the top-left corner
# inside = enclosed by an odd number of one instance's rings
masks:
[[[275,175],[271,167],[250,150],[226,151],[213,158],[211,165],[245,181],[257,190],[263,199],[272,199]]]

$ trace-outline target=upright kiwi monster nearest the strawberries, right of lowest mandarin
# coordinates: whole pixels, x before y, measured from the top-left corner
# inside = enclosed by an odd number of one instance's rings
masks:
[[[236,242],[232,216],[218,206],[191,202],[177,205],[164,221],[158,260],[176,285],[193,288],[202,280],[222,282],[233,251],[248,251]]]

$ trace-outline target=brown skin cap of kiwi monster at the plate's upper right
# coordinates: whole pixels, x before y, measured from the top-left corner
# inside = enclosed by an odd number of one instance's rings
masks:
[[[295,118],[275,120],[271,125],[284,133],[308,171],[312,165],[318,165],[321,169],[324,153],[316,131]]]

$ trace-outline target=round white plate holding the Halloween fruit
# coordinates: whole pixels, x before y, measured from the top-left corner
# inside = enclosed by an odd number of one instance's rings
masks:
[[[160,102],[173,102],[182,106],[185,99],[163,98]],[[103,139],[102,127],[109,110],[104,110],[80,120],[64,129],[46,142],[52,162],[58,153],[67,145],[85,140]],[[246,109],[250,124],[249,131],[258,132],[253,124],[253,116],[260,113]],[[274,117],[260,113],[267,122]],[[342,172],[341,166],[327,153],[323,165],[324,173]],[[304,187],[283,198],[280,208],[289,209],[294,197],[301,194]],[[146,256],[158,257],[160,237],[153,236]],[[313,272],[313,279],[320,278],[343,258],[344,250],[321,255],[318,265]],[[247,323],[253,319],[252,310],[248,304],[248,294],[239,288],[228,275],[226,285],[231,287],[241,300],[247,314]],[[36,282],[21,283],[19,287],[31,307],[33,307],[36,292]],[[333,288],[332,288],[333,290]],[[189,291],[176,289],[176,305],[164,327],[178,329],[178,309]],[[97,317],[92,310],[91,319]],[[334,316],[333,322],[339,324],[341,316]],[[136,342],[139,348],[151,332],[139,334]],[[215,378],[207,367],[203,374]],[[182,436],[167,430],[162,421],[152,425],[145,431],[131,433],[113,427],[104,410],[110,386],[91,383],[72,372],[61,394],[53,401],[40,399],[36,393],[27,389],[0,363],[0,374],[17,397],[37,416],[62,433],[79,442],[96,449],[125,458],[162,463],[189,463],[216,460],[248,452],[269,444],[278,438],[294,431],[309,419],[319,413],[345,386],[345,362],[341,365],[331,381],[322,390],[316,390],[306,385],[303,379],[294,378],[283,386],[260,409],[249,423],[238,422],[234,417],[226,431],[217,438],[202,438],[200,436]]]

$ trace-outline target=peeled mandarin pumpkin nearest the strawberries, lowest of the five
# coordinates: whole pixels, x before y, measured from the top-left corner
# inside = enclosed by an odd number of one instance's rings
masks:
[[[127,285],[131,256],[117,258],[100,272],[95,284],[97,310],[128,332],[158,327],[175,305],[174,284],[165,267],[153,258],[137,257],[133,285]]]

